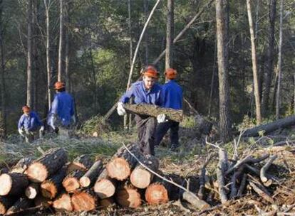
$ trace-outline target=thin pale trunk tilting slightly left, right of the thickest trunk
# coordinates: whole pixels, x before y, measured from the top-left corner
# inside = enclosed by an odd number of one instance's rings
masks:
[[[257,73],[257,58],[256,58],[256,46],[255,46],[255,36],[254,36],[254,25],[252,19],[252,10],[251,10],[251,2],[247,0],[247,11],[248,11],[248,20],[249,20],[249,28],[250,28],[250,36],[251,36],[251,51],[252,51],[252,70],[253,70],[253,80],[254,80],[254,97],[255,97],[255,105],[256,105],[256,119],[257,124],[261,124],[262,122],[262,113],[260,106],[260,97],[259,97],[259,84],[258,84],[258,73]]]

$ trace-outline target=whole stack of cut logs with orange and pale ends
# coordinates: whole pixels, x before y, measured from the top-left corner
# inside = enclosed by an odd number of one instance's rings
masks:
[[[152,171],[159,162],[144,156],[136,144],[128,149]],[[138,207],[144,197],[150,204],[167,202],[170,188],[120,148],[105,165],[82,155],[68,163],[63,148],[52,148],[36,160],[24,158],[11,171],[0,175],[0,215],[38,207],[61,211],[90,211],[117,202]],[[146,190],[145,190],[146,189]]]

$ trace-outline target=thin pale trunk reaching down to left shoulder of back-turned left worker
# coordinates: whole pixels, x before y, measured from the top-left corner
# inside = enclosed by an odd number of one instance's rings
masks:
[[[45,12],[46,12],[46,71],[47,71],[48,110],[51,109],[51,56],[50,56],[49,2],[50,0],[44,0]]]

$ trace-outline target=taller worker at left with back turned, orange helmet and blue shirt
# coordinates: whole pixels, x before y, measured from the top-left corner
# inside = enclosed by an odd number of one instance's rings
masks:
[[[73,97],[66,92],[66,85],[64,82],[56,82],[54,84],[54,89],[56,90],[56,95],[54,95],[51,109],[48,113],[47,124],[51,126],[56,133],[61,129],[64,133],[68,134],[71,126],[76,124],[74,100]]]

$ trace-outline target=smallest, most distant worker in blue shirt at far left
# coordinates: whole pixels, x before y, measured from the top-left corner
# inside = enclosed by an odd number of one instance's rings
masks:
[[[39,131],[39,137],[42,138],[44,126],[38,114],[31,111],[30,107],[24,106],[22,109],[24,114],[19,119],[19,134],[25,139],[26,143],[31,143],[34,139],[36,131]]]

